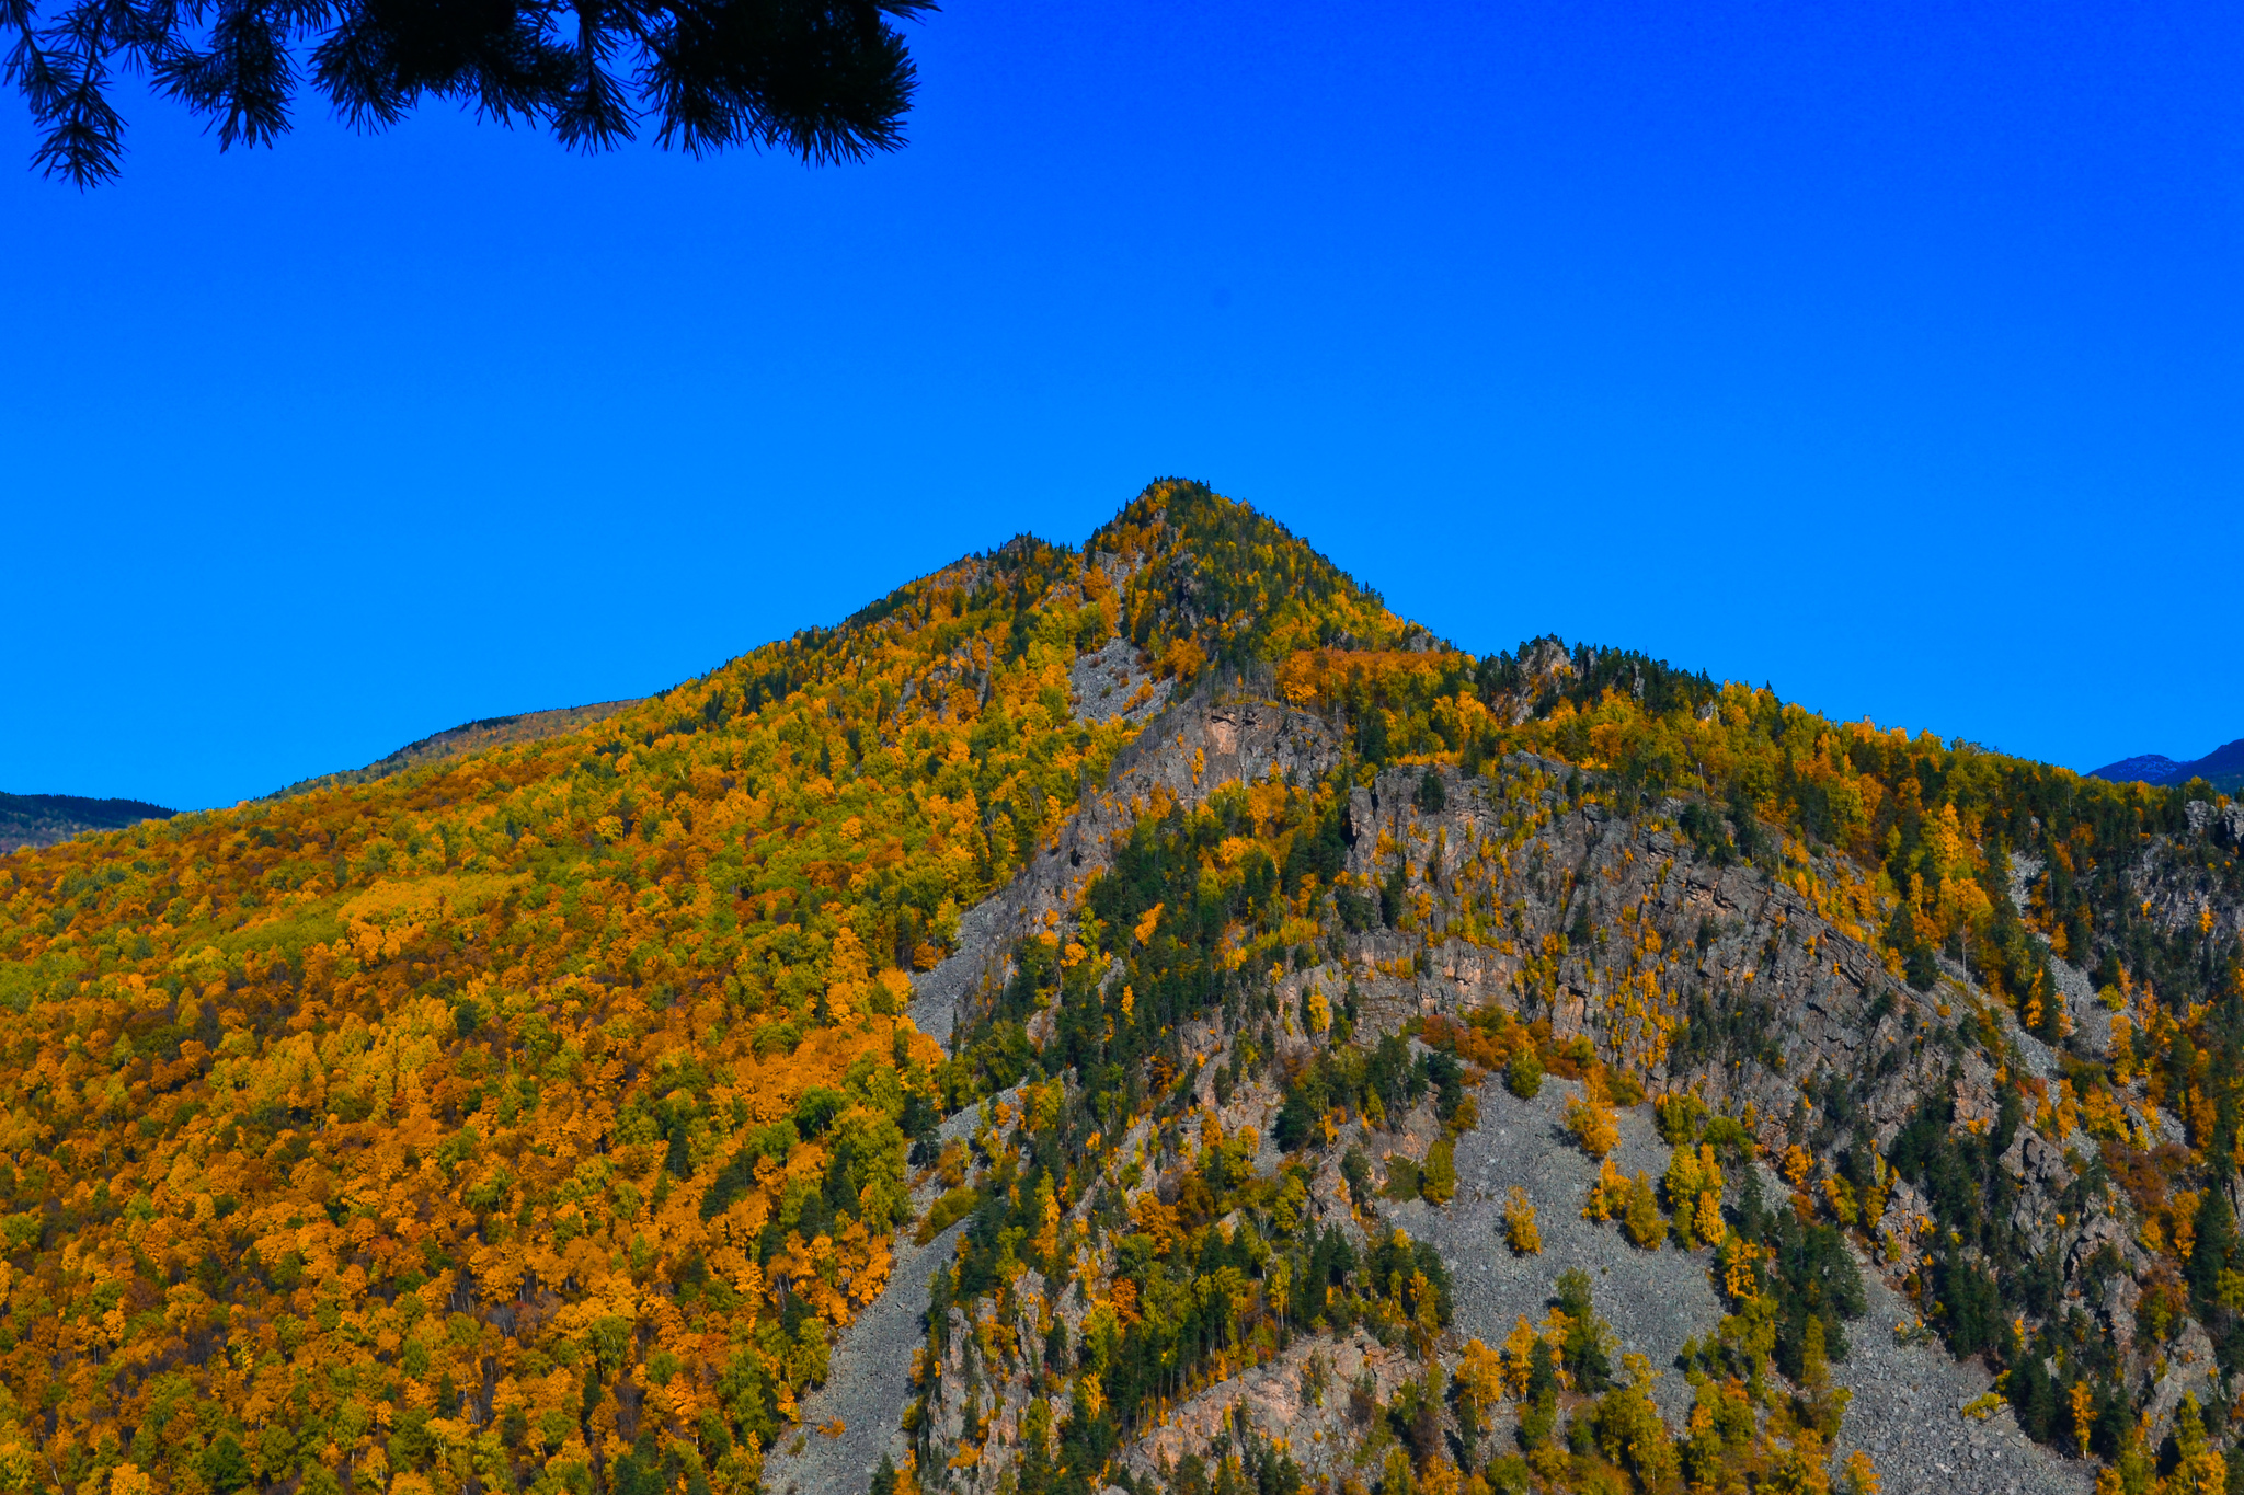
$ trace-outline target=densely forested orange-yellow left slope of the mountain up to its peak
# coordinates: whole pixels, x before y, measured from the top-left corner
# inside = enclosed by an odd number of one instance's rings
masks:
[[[530,1477],[613,1392],[767,1443],[931,1121],[904,973],[1131,733],[1070,717],[1075,652],[1398,632],[1165,493],[568,737],[4,863],[16,1446],[70,1484]]]

